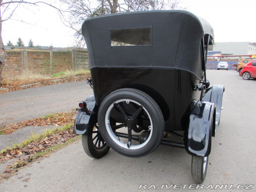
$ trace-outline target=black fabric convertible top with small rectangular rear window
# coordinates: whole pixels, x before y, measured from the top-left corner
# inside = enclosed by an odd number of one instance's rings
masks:
[[[82,25],[90,68],[175,68],[203,78],[202,38],[213,28],[188,11],[125,12]]]

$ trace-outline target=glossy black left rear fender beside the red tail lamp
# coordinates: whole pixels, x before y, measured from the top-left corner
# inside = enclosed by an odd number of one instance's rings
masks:
[[[97,105],[94,95],[87,97],[85,100],[87,109],[92,113],[78,111],[75,119],[74,133],[79,135],[88,134],[90,121],[97,122]]]

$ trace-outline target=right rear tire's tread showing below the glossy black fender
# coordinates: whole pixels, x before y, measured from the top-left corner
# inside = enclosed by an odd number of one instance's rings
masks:
[[[197,184],[201,184],[206,178],[208,157],[206,160],[205,171],[203,170],[203,165],[204,165],[204,157],[198,157],[198,156],[192,155],[192,160],[191,160],[192,178],[194,182],[196,182]]]

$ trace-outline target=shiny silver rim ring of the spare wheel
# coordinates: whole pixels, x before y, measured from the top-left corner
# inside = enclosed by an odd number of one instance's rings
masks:
[[[127,146],[127,143],[124,143],[122,142],[119,137],[116,136],[116,134],[113,132],[112,128],[111,128],[111,122],[110,122],[110,113],[114,107],[114,105],[118,104],[118,103],[121,103],[121,102],[126,102],[126,103],[134,103],[138,106],[142,106],[143,107],[143,110],[145,111],[145,113],[147,114],[149,120],[150,120],[150,126],[148,127],[148,130],[150,130],[150,134],[149,134],[149,137],[146,139],[146,141],[142,144],[137,144],[137,145],[130,145],[129,148]],[[130,100],[130,99],[121,99],[121,100],[118,100],[114,103],[112,103],[110,105],[110,107],[108,107],[108,110],[106,112],[106,115],[105,115],[105,126],[106,126],[106,129],[107,129],[107,132],[108,134],[110,135],[111,139],[120,147],[122,148],[125,148],[125,149],[130,149],[130,150],[135,150],[135,149],[140,149],[142,147],[144,147],[148,142],[149,140],[151,139],[152,137],[152,133],[153,133],[153,124],[152,124],[152,119],[148,113],[148,111],[144,108],[143,105],[141,105],[140,103],[138,103],[137,101],[134,101],[134,100]]]

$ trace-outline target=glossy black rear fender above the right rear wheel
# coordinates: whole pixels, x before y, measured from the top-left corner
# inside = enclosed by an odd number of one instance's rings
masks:
[[[208,156],[212,144],[215,104],[194,100],[190,108],[188,129],[184,137],[186,151],[190,155]]]

